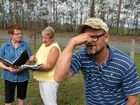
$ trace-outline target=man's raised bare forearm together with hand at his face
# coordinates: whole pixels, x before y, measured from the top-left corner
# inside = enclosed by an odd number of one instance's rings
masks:
[[[78,45],[82,45],[91,41],[92,39],[89,33],[82,33],[70,39],[57,61],[55,72],[56,81],[62,82],[64,79],[69,78],[72,75],[69,69],[74,48]]]

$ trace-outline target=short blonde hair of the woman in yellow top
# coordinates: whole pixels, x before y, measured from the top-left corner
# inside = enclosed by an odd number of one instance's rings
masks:
[[[47,35],[49,38],[54,38],[55,31],[51,26],[48,26],[42,31],[42,35]]]

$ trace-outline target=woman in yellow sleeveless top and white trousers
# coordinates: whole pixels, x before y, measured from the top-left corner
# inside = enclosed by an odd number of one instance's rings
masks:
[[[61,53],[58,43],[54,39],[55,31],[48,26],[42,31],[43,44],[31,60],[36,64],[43,64],[39,70],[33,72],[34,79],[39,81],[41,98],[45,105],[57,105],[57,90],[59,84],[54,80],[55,64]]]

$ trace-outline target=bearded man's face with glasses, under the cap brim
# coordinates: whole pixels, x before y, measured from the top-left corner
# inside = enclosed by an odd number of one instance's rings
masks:
[[[86,27],[83,32],[89,32],[92,38],[92,42],[86,43],[88,54],[96,56],[102,52],[109,40],[107,34],[103,30],[93,29],[91,27]]]

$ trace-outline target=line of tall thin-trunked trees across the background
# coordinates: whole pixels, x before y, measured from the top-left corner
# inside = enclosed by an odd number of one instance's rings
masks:
[[[89,17],[100,17],[114,35],[140,35],[139,0],[0,0],[0,29],[19,24],[33,34],[48,25],[73,32]]]

